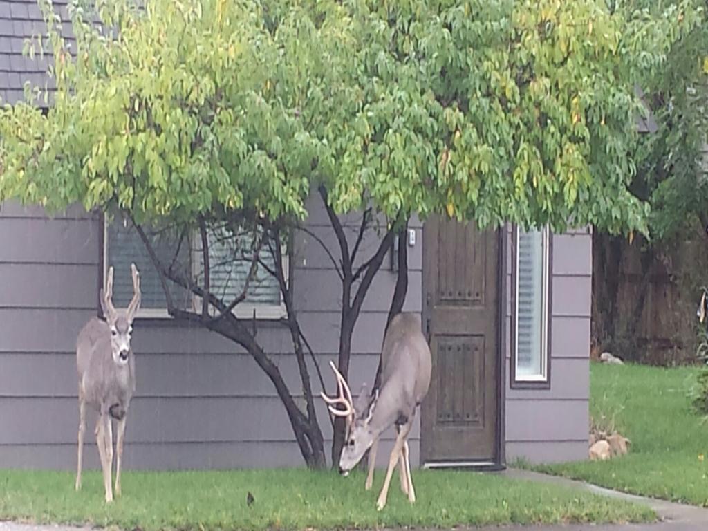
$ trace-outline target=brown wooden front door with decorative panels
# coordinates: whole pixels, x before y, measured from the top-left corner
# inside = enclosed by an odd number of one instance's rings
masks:
[[[421,460],[498,458],[498,233],[433,217],[423,229],[424,326],[433,355]]]

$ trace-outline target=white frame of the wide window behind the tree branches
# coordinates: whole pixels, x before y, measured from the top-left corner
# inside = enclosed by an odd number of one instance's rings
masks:
[[[105,279],[108,276],[108,268],[110,267],[110,264],[108,263],[108,219],[107,217],[103,216],[103,279],[101,282],[101,285],[105,286]],[[290,282],[290,256],[287,253],[287,249],[284,249],[284,253],[282,254],[282,267],[283,267],[283,275],[285,275],[285,282]],[[193,277],[196,277],[199,273],[197,270],[197,263],[198,261],[195,260],[195,258],[198,258],[198,260],[201,260],[201,251],[200,250],[193,250],[193,259],[192,259],[192,275]],[[287,309],[285,309],[285,301],[282,298],[282,292],[280,289],[278,290],[280,293],[280,304],[267,304],[264,302],[241,302],[239,304],[236,304],[236,307],[232,309],[232,314],[236,316],[239,319],[253,319],[253,312],[256,312],[256,319],[259,320],[275,320],[275,319],[282,319],[283,317],[287,316]],[[198,312],[200,313],[202,311],[202,297],[199,297],[198,295],[192,295],[191,297],[191,302],[192,302],[192,308],[191,310],[193,312]],[[228,304],[228,301],[227,301]],[[119,308],[120,309],[120,308]],[[219,310],[217,310],[215,307],[213,307],[211,304],[209,306],[209,312],[212,316],[216,316],[219,314]],[[172,319],[170,314],[167,312],[167,309],[161,309],[161,308],[140,308],[135,315],[137,319]]]

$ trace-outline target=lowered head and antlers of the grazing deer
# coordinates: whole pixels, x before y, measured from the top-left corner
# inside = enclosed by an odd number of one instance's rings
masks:
[[[346,418],[346,435],[344,438],[344,447],[341,456],[339,457],[339,472],[346,476],[353,469],[364,454],[371,447],[376,433],[371,429],[370,421],[374,413],[376,401],[379,397],[378,392],[374,396],[367,394],[366,384],[362,385],[361,392],[356,403],[352,400],[352,394],[349,386],[337,370],[333,362],[329,362],[329,366],[334,371],[337,379],[338,396],[331,398],[324,393],[321,393],[322,399],[329,404],[330,413],[334,416]],[[337,409],[336,406],[341,405],[344,409]]]

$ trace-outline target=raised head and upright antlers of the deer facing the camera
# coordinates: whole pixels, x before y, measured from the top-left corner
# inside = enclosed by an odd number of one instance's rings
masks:
[[[140,307],[140,274],[135,263],[130,265],[133,282],[133,297],[125,310],[113,306],[113,266],[108,269],[105,290],[101,290],[101,308],[110,328],[110,350],[116,365],[125,365],[130,355],[130,334],[132,321]]]

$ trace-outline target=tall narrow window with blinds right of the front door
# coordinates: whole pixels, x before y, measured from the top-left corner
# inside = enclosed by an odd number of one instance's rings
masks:
[[[518,230],[515,255],[515,380],[547,382],[549,230]]]

